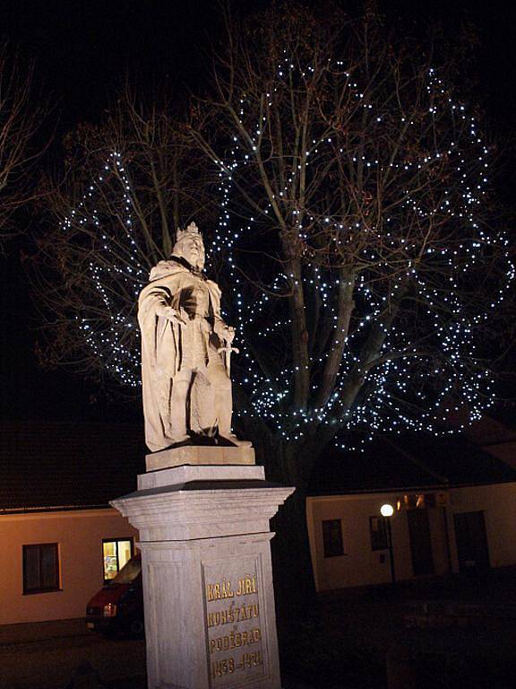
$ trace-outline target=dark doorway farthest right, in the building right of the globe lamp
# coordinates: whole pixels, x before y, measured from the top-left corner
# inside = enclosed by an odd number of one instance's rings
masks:
[[[454,514],[453,521],[460,572],[488,570],[491,565],[484,512]]]

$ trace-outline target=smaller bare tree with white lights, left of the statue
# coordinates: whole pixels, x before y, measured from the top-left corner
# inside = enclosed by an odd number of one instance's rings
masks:
[[[159,104],[157,104],[159,103]],[[30,261],[43,363],[140,385],[136,299],[176,228],[211,212],[207,166],[167,94],[138,104],[126,85],[99,126],[66,136],[64,173],[47,177]]]

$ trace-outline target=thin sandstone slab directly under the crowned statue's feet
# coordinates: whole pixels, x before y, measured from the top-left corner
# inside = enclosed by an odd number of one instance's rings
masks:
[[[145,457],[147,471],[180,467],[181,465],[254,464],[251,447],[212,447],[185,445],[183,448],[162,449]]]

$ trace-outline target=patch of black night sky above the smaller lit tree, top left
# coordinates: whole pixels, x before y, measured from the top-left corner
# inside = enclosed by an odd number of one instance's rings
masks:
[[[214,7],[201,0],[3,0],[0,31],[36,59],[65,126],[98,117],[127,66],[146,81],[169,75],[194,83]]]

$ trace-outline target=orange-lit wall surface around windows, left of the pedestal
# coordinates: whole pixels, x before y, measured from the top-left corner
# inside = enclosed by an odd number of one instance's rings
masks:
[[[85,615],[103,584],[102,539],[138,532],[116,510],[73,510],[0,516],[0,624]],[[61,591],[23,595],[22,545],[58,543]]]

